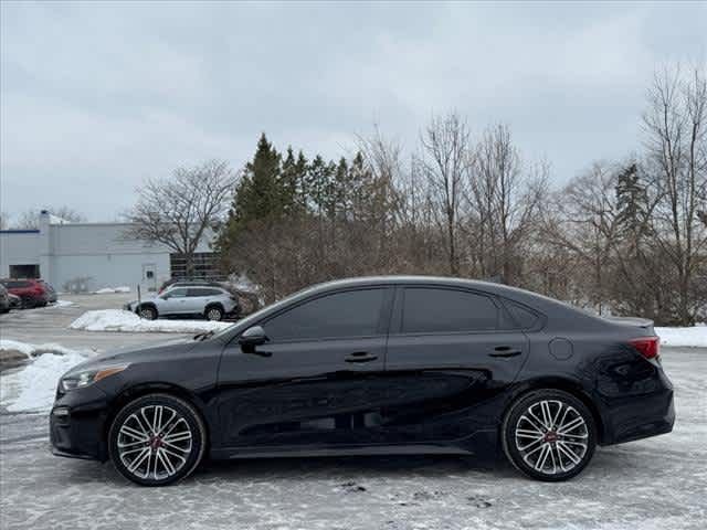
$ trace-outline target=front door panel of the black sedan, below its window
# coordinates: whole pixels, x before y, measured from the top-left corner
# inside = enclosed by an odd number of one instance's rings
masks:
[[[366,443],[384,390],[384,337],[264,344],[224,352],[219,416],[225,446]],[[365,350],[367,362],[347,362]],[[229,375],[233,374],[233,375]]]

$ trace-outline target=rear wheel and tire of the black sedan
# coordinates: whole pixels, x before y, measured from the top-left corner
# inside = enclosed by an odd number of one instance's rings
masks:
[[[589,464],[597,446],[587,406],[559,390],[532,392],[511,407],[503,426],[506,456],[531,478],[566,480]]]

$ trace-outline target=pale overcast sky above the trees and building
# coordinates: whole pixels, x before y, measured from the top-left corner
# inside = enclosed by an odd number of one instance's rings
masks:
[[[1,4],[0,204],[115,219],[261,131],[328,158],[433,113],[510,125],[561,183],[640,145],[656,67],[707,56],[707,3]]]

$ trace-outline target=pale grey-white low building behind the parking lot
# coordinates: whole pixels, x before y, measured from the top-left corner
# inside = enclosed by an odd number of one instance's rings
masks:
[[[59,290],[83,284],[88,290],[139,284],[155,289],[184,275],[183,259],[159,243],[126,239],[127,223],[67,223],[42,211],[39,230],[0,231],[0,277],[43,278]],[[209,234],[194,256],[194,276],[211,277]]]

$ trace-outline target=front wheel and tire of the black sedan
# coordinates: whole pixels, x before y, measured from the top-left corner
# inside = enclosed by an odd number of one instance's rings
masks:
[[[115,468],[141,486],[167,486],[189,476],[203,457],[207,431],[196,409],[169,394],[125,405],[108,433]]]

